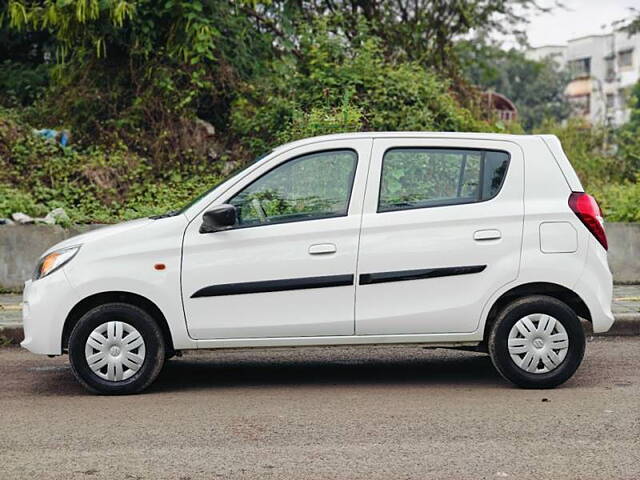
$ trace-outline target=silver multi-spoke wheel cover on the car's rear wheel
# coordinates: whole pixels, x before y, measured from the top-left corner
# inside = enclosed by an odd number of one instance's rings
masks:
[[[509,332],[509,355],[529,373],[547,373],[560,366],[569,351],[569,335],[560,321],[533,313],[518,320]]]

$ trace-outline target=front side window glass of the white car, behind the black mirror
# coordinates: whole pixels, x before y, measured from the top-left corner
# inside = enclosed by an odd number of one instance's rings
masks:
[[[358,157],[353,150],[311,153],[289,160],[236,194],[239,226],[347,214]]]

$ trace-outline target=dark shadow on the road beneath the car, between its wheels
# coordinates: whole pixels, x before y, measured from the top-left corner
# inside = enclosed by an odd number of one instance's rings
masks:
[[[507,385],[489,356],[477,353],[426,353],[416,349],[411,356],[387,352],[380,357],[302,352],[282,356],[250,353],[248,358],[214,353],[204,358],[173,359],[167,362],[151,390],[343,384]]]

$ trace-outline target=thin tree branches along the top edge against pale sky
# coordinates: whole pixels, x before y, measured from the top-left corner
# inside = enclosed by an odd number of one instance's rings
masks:
[[[452,47],[462,35],[484,30],[521,36],[527,13],[546,10],[537,0],[273,0],[242,8],[285,51],[298,52],[300,35],[323,18],[349,42],[366,28],[387,57],[445,70],[456,66]]]

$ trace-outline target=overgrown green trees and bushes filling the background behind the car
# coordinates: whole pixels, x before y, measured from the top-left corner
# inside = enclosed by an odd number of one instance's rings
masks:
[[[562,72],[486,40],[518,38],[535,9],[536,0],[9,0],[0,216],[161,213],[312,135],[540,130],[561,137],[609,219],[637,220],[640,119],[618,132],[561,126]],[[488,89],[516,102],[521,123],[493,117],[480,96]],[[70,131],[70,146],[34,135],[40,128]]]

